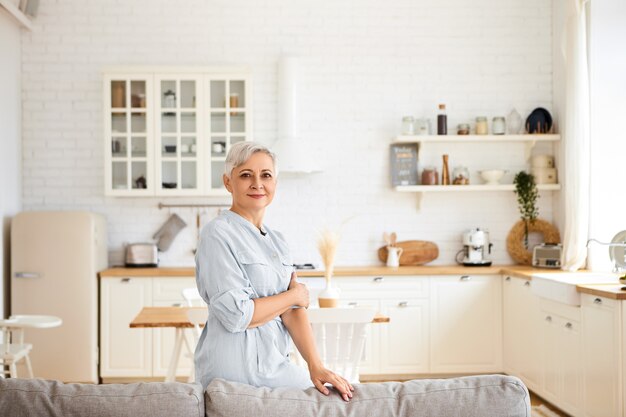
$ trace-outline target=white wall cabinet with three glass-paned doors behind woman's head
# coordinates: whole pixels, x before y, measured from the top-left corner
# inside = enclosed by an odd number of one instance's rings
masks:
[[[107,70],[105,194],[227,195],[226,153],[252,140],[250,88],[241,68]]]

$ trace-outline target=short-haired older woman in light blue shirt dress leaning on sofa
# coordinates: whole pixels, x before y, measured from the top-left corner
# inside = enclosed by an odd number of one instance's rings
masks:
[[[276,190],[275,159],[253,142],[233,145],[226,156],[223,180],[232,206],[204,227],[196,252],[196,283],[209,306],[195,354],[197,379],[205,388],[213,378],[266,387],[313,384],[326,395],[329,383],[349,401],[352,386],[324,367],[315,347],[309,293],[296,280],[287,243],[263,224]],[[289,360],[290,336],[308,375]]]

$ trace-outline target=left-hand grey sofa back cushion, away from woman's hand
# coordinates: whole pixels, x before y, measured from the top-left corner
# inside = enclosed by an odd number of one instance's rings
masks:
[[[183,383],[64,384],[0,378],[3,416],[204,416],[202,386]]]

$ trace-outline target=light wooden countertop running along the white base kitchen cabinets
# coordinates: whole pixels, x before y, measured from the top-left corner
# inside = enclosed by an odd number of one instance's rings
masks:
[[[459,265],[441,266],[401,266],[389,268],[387,266],[343,266],[336,267],[333,276],[416,276],[416,275],[513,275],[519,278],[532,279],[533,274],[560,274],[559,269],[533,268],[523,265],[494,265],[488,267],[466,267]],[[584,274],[588,271],[579,271]],[[194,267],[162,267],[162,268],[125,268],[113,267],[100,272],[101,278],[152,278],[152,277],[195,277]],[[323,277],[323,270],[300,269],[300,277]],[[600,297],[612,298],[615,300],[626,300],[626,291],[620,284],[584,284],[577,285],[579,292],[597,295]]]

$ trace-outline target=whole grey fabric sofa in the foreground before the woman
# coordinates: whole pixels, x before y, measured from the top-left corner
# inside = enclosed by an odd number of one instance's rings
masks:
[[[528,390],[518,378],[482,375],[355,385],[352,400],[315,388],[255,388],[214,380],[183,383],[63,384],[0,378],[0,415],[50,416],[530,416]]]

